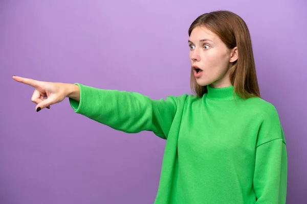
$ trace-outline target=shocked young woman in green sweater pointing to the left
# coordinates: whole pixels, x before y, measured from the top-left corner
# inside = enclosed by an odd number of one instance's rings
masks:
[[[153,100],[13,77],[35,88],[36,111],[65,97],[76,113],[126,133],[167,139],[156,204],[285,203],[287,150],[275,107],[260,98],[249,30],[215,11],[189,28],[195,95]]]

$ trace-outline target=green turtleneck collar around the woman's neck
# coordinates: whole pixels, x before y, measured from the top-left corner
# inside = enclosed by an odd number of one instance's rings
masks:
[[[212,100],[231,100],[233,99],[233,86],[223,87],[223,88],[213,88],[207,85],[207,97]],[[235,94],[235,98],[237,95]]]

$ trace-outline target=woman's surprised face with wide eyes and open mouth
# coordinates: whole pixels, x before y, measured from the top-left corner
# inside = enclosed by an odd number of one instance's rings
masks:
[[[189,38],[190,61],[200,86],[230,86],[229,68],[237,60],[237,48],[229,49],[206,27],[195,27]]]

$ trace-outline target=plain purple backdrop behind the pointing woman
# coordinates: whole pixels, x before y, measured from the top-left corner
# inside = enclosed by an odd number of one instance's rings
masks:
[[[153,203],[165,140],[75,114],[68,99],[35,112],[41,81],[190,93],[188,28],[231,10],[247,22],[262,97],[288,142],[287,203],[307,199],[307,3],[301,1],[0,1],[0,203]],[[222,195],[221,195],[222,196]]]

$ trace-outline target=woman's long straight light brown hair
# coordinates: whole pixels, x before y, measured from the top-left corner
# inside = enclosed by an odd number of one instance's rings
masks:
[[[206,27],[215,33],[229,49],[237,46],[238,59],[230,68],[230,82],[234,93],[242,98],[260,97],[252,42],[245,21],[230,11],[213,11],[196,18],[190,28],[189,36],[195,27]],[[200,86],[191,69],[191,90],[202,97],[208,92],[207,86]]]

